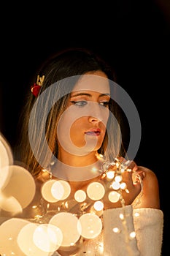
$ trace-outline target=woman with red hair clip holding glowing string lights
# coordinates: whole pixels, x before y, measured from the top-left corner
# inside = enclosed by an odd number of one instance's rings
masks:
[[[25,214],[61,230],[53,255],[161,255],[158,180],[123,148],[125,92],[112,69],[67,49],[37,75],[21,118],[21,159],[37,186]]]

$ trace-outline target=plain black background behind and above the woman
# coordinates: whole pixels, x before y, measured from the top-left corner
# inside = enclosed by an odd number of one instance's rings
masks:
[[[12,150],[24,95],[48,56],[65,47],[86,47],[115,67],[117,83],[133,99],[142,123],[136,162],[158,176],[165,218],[163,256],[170,255],[170,1],[12,2],[1,7],[0,33],[0,130]]]

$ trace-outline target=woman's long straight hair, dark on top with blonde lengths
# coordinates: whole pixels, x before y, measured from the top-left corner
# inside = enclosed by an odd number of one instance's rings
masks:
[[[50,166],[53,155],[58,156],[58,138],[57,125],[58,121],[66,110],[70,91],[77,82],[78,76],[86,72],[95,72],[101,70],[109,80],[115,80],[115,74],[112,69],[94,53],[85,49],[67,49],[50,58],[41,69],[39,75],[45,75],[39,96],[34,97],[31,91],[28,91],[26,105],[20,116],[20,160],[25,167],[36,176],[42,170],[42,164],[39,164],[39,157],[43,159],[43,167]],[[69,82],[66,78],[72,77]],[[53,91],[46,96],[40,97],[43,92],[53,85]],[[111,90],[112,91],[112,90]],[[113,92],[115,93],[115,92]],[[56,100],[58,99],[58,100]],[[55,102],[53,106],[51,102]],[[110,99],[109,110],[115,116],[118,123],[120,122],[120,113],[114,100]],[[34,148],[30,145],[34,141]],[[108,136],[109,134],[109,136]],[[50,148],[45,151],[45,143]],[[123,149],[119,129],[115,127],[115,121],[112,116],[107,123],[107,132],[104,137],[101,148],[98,153],[104,154],[108,160],[112,161],[117,155],[121,154]],[[35,157],[36,152],[36,157]],[[37,157],[37,155],[39,157]]]

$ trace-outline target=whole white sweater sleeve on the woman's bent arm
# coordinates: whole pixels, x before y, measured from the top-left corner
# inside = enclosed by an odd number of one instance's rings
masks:
[[[121,218],[123,214],[124,219]],[[104,255],[161,256],[163,212],[132,206],[104,211]],[[116,232],[117,231],[117,232]],[[133,235],[135,231],[136,236]]]

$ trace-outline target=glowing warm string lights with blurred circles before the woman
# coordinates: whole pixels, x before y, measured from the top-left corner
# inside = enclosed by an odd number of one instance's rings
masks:
[[[111,204],[118,201],[121,203],[122,213],[119,218],[123,223],[123,230],[113,227],[112,231],[117,234],[125,233],[128,249],[128,241],[135,237],[135,233],[128,233],[126,225],[123,192],[129,191],[123,181],[123,173],[132,171],[128,167],[131,162],[121,162],[117,158],[114,162],[107,162],[103,156],[99,157],[103,164],[101,170],[98,170],[98,178],[82,189],[73,190],[69,181],[53,178],[51,173],[43,170],[50,178],[41,186],[42,198],[28,210],[25,209],[27,213],[31,211],[33,217],[27,218],[26,214],[21,218],[12,216],[0,226],[0,234],[3,233],[4,241],[2,256],[12,253],[21,256],[52,256],[56,251],[76,254],[83,243],[101,236],[106,198]],[[139,179],[142,186],[139,174],[133,172],[133,175]],[[139,203],[141,196],[142,192],[136,203]],[[12,231],[9,231],[9,227],[13,227]],[[11,248],[11,254],[7,252],[7,247]],[[102,249],[102,241],[97,241],[96,251],[100,251],[102,255]]]

